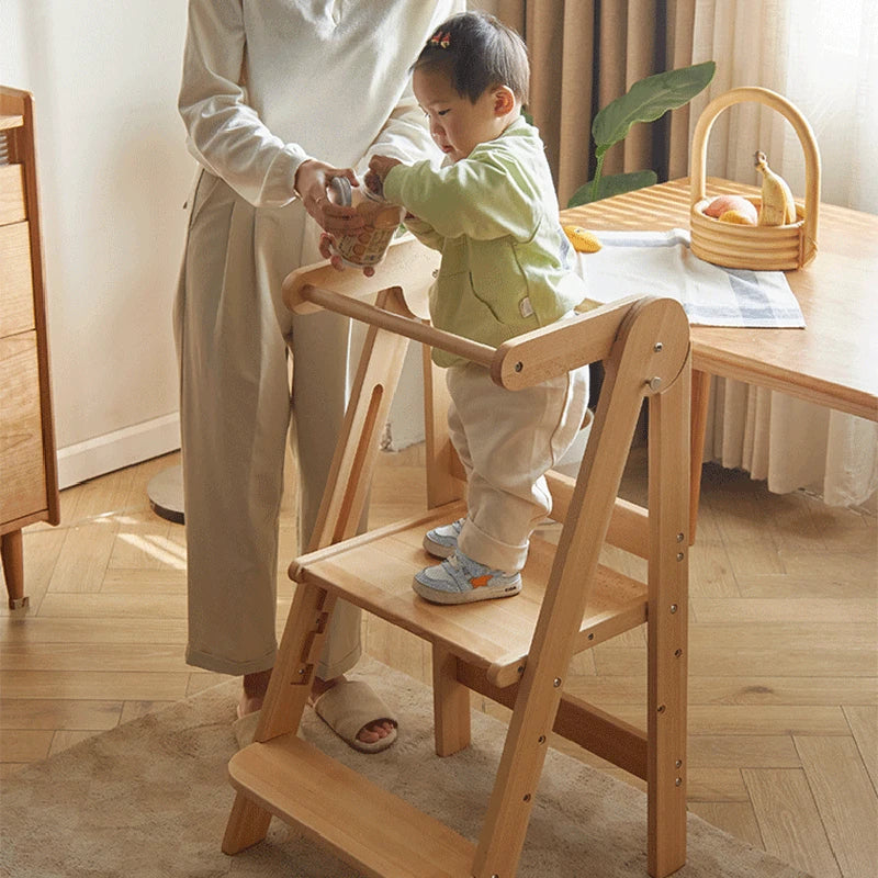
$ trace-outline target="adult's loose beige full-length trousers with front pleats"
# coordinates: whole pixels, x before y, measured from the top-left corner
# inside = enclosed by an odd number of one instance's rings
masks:
[[[326,312],[293,316],[281,300],[285,274],[319,259],[316,237],[314,228],[306,228],[301,203],[257,211],[216,177],[200,176],[175,333],[188,555],[187,662],[209,671],[240,675],[274,664],[290,350],[302,552],[344,420],[350,322]],[[350,669],[360,652],[360,611],[339,603],[317,675],[328,679]]]

